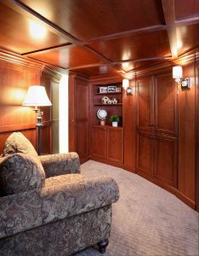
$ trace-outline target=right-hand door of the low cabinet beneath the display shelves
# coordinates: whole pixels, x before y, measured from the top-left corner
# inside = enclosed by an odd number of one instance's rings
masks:
[[[123,130],[107,129],[107,159],[123,163]]]

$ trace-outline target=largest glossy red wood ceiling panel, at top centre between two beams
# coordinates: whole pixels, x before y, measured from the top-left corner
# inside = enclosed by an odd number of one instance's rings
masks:
[[[80,40],[164,24],[161,0],[22,0],[21,2]]]

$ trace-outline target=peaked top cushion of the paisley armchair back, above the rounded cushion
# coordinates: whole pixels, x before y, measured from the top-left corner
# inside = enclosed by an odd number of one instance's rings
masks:
[[[22,153],[38,158],[38,154],[29,140],[21,132],[13,132],[6,140],[2,156]]]

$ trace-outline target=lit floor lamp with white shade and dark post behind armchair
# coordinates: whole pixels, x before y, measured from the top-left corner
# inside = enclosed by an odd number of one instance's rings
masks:
[[[36,113],[36,127],[37,127],[37,154],[41,154],[41,127],[42,124],[42,115],[43,112],[40,111],[38,107],[52,106],[52,103],[49,101],[46,89],[41,85],[31,85],[28,88],[26,98],[22,103],[22,106],[26,107],[35,107],[33,111]]]

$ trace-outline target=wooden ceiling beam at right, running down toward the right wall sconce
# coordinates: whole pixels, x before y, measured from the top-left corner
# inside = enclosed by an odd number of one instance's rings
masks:
[[[177,34],[175,25],[174,0],[162,0],[162,9],[168,31],[168,40],[173,58],[178,57]]]

